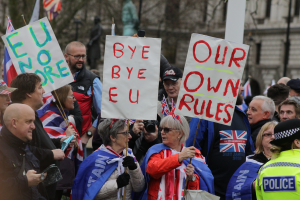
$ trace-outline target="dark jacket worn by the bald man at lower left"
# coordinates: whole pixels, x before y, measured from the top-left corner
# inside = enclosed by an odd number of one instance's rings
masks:
[[[35,170],[40,173],[40,161],[33,153],[39,151],[32,147],[33,152],[28,149],[28,144],[14,136],[5,126],[0,135],[0,199],[2,200],[45,200],[47,195],[42,184],[28,187],[26,173]],[[41,162],[49,163],[47,157]],[[23,159],[25,165],[22,170]],[[53,157],[53,155],[52,155]]]

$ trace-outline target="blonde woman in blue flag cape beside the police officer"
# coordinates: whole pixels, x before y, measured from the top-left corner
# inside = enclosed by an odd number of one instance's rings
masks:
[[[273,145],[270,142],[274,140],[276,125],[277,122],[272,121],[261,127],[256,138],[255,154],[248,156],[246,162],[232,175],[227,186],[226,200],[256,200],[254,181],[260,167],[272,157]]]

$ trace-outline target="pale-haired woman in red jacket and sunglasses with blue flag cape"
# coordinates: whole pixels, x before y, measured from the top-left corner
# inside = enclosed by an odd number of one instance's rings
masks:
[[[174,119],[175,118],[175,119]],[[189,125],[183,116],[164,117],[160,123],[163,144],[152,146],[143,161],[146,190],[138,194],[143,200],[179,200],[187,189],[214,193],[213,176],[201,152],[195,147],[184,147]],[[189,164],[190,158],[192,163]]]

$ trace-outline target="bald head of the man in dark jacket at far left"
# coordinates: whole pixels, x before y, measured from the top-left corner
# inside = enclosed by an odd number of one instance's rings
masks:
[[[32,130],[35,129],[34,120],[34,110],[26,104],[11,104],[3,115],[7,129],[24,142],[32,140]]]

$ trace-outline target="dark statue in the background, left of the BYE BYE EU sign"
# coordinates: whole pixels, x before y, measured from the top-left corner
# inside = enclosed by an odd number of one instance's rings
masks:
[[[101,58],[100,36],[102,27],[100,17],[95,16],[94,23],[90,34],[90,41],[87,44],[87,62],[91,69],[97,69],[97,60]]]

